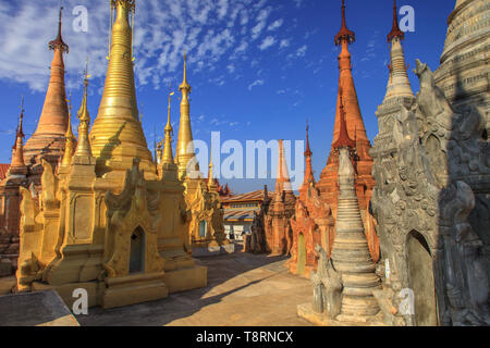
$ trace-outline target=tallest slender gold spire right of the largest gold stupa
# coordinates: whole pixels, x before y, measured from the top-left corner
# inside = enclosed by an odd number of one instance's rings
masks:
[[[184,79],[179,87],[182,94],[181,99],[181,122],[179,126],[176,156],[179,158],[179,177],[186,176],[187,170],[198,171],[198,164],[195,169],[187,169],[188,162],[196,156],[193,142],[193,132],[191,128],[191,105],[188,96],[192,87],[187,82],[187,54],[184,53]]]

